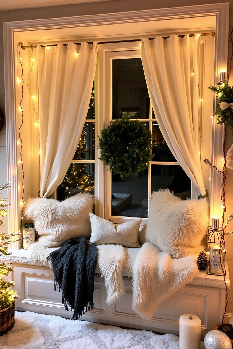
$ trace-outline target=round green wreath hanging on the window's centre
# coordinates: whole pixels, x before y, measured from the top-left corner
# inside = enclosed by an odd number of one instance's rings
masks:
[[[99,137],[100,160],[121,178],[145,170],[151,155],[151,131],[127,116],[102,129]]]

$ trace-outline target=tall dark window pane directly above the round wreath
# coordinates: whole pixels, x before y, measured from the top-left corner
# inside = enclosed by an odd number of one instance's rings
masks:
[[[141,58],[112,60],[112,119],[148,119],[150,99]]]

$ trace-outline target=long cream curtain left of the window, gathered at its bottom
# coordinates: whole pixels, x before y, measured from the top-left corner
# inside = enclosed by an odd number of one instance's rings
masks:
[[[97,60],[96,43],[37,46],[40,196],[62,182],[88,111]]]

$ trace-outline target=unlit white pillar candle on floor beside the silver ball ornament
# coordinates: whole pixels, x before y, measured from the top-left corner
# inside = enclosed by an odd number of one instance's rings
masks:
[[[196,315],[180,316],[180,349],[200,349],[201,319]]]

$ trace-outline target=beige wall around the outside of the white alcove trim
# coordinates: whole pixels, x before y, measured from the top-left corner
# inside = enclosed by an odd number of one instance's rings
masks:
[[[178,7],[187,5],[201,5],[205,3],[219,3],[225,1],[213,1],[213,0],[177,0],[175,3],[173,0],[164,0],[162,2],[163,8]],[[67,17],[67,16],[78,16],[78,15],[89,15],[98,13],[112,13],[112,12],[125,12],[131,10],[144,10],[160,8],[161,2],[155,0],[115,0],[105,1],[89,4],[80,5],[67,5],[67,6],[54,6],[44,7],[37,9],[24,9],[24,10],[11,10],[0,12],[0,107],[5,114],[5,91],[4,91],[4,64],[3,64],[3,34],[2,34],[2,22],[19,21],[19,20],[32,20],[40,18],[51,18],[51,17]],[[233,0],[230,0],[230,26],[229,33],[233,27]],[[232,45],[229,34],[229,49],[228,49],[228,61],[230,62],[232,54]],[[230,66],[228,64],[228,66]],[[232,62],[233,68],[233,62]],[[233,84],[233,69],[230,74],[230,84]],[[227,130],[226,133],[226,151],[231,147],[233,142],[233,133]],[[222,146],[221,144],[219,145]],[[7,180],[6,176],[6,131],[5,126],[0,133],[0,185],[5,184]],[[227,180],[225,184],[226,192],[226,208],[227,214],[233,212],[233,170],[227,170]],[[6,192],[4,192],[6,193]],[[7,219],[1,227],[3,231],[7,232]],[[229,226],[228,230],[233,230],[233,222]],[[226,249],[227,249],[227,263],[230,272],[231,289],[228,290],[228,306],[227,313],[233,314],[233,236],[226,237]]]

